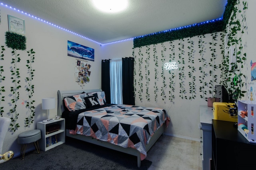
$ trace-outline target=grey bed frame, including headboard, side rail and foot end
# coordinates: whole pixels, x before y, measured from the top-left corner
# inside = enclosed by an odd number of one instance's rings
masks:
[[[94,89],[94,90],[69,90],[69,91],[60,91],[58,90],[57,95],[58,95],[58,115],[62,115],[62,112],[64,111],[64,106],[63,106],[63,98],[67,97],[67,96],[72,96],[74,94],[80,94],[82,92],[99,92],[102,91],[101,89]],[[85,142],[89,142],[95,145],[99,145],[102,147],[106,147],[109,149],[113,149],[113,150],[117,150],[120,152],[124,152],[127,154],[131,154],[134,156],[137,156],[137,163],[138,163],[138,167],[140,167],[141,165],[141,159],[140,159],[140,152],[136,149],[132,149],[132,148],[124,148],[124,147],[120,147],[118,145],[114,145],[112,143],[108,143],[105,141],[100,141],[98,139],[94,139],[92,137],[88,137],[88,136],[84,136],[84,135],[72,135],[69,133],[69,129],[66,129],[66,136],[67,137],[72,137],[75,139],[79,139]],[[154,135],[151,137],[150,142],[146,145],[146,151],[148,152],[148,150],[154,145],[154,143],[156,143],[157,139],[164,134],[164,125],[162,125],[162,127],[160,127],[155,133]]]

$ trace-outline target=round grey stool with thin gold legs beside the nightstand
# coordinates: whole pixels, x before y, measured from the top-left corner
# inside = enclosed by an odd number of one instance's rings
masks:
[[[27,144],[34,143],[35,149],[40,153],[38,140],[41,139],[41,131],[38,129],[22,132],[18,135],[18,144],[21,144],[20,154],[24,160]]]

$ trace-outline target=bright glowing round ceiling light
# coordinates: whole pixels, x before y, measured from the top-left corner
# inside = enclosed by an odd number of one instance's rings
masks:
[[[121,12],[128,6],[128,0],[93,0],[98,10],[109,13]]]

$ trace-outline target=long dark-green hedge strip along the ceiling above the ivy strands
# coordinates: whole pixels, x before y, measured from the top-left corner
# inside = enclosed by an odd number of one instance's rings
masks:
[[[145,45],[163,43],[166,41],[174,41],[176,39],[184,39],[187,37],[194,37],[197,35],[224,31],[226,29],[226,24],[228,23],[236,1],[237,0],[228,0],[222,20],[197,23],[190,26],[182,27],[181,29],[172,29],[171,31],[144,35],[143,37],[136,37],[133,39],[133,47],[142,47]]]

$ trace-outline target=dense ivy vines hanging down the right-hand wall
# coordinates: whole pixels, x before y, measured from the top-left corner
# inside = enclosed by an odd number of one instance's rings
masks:
[[[242,6],[241,6],[242,5]],[[242,69],[246,61],[246,53],[243,51],[242,36],[246,30],[246,10],[248,4],[243,1],[240,4],[238,0],[234,6],[232,16],[230,17],[230,23],[228,25],[228,47],[230,47],[231,53],[235,57],[236,61],[232,63],[230,70],[224,70],[224,75],[227,77],[225,86],[228,88],[229,94],[232,94],[234,100],[238,100],[244,97],[246,91],[242,91],[242,87],[245,84],[246,76],[242,74]],[[229,54],[232,55],[232,54]],[[225,57],[224,64],[228,68],[229,57]]]

